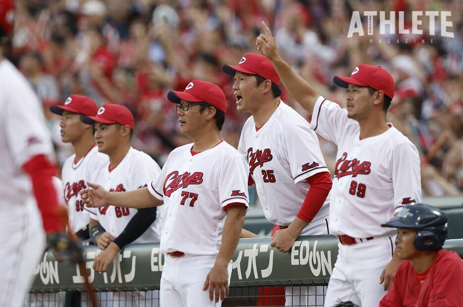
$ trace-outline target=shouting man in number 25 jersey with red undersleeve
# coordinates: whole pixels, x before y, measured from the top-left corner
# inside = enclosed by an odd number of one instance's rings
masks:
[[[241,131],[238,151],[247,159],[265,217],[280,228],[271,245],[287,253],[300,235],[328,234],[330,173],[315,132],[281,101],[280,77],[272,63],[248,53],[237,66],[224,65],[222,70],[234,76],[237,109],[252,114]],[[257,237],[248,231],[242,236]],[[307,296],[305,287],[299,297],[298,290],[287,287],[287,306],[296,301],[314,306],[315,293],[323,292],[310,287]]]

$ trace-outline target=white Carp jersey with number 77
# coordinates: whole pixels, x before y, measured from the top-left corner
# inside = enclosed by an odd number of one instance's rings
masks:
[[[247,170],[243,157],[222,141],[192,154],[193,145],[169,154],[161,174],[148,189],[164,201],[162,253],[217,255],[222,243],[226,207],[249,207]]]

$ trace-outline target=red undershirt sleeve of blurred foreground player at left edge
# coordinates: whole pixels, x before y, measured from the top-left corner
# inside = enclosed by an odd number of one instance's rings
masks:
[[[30,176],[37,206],[42,214],[45,232],[64,230],[62,217],[59,216],[58,196],[53,185],[56,167],[43,154],[35,155],[24,163],[23,170]]]

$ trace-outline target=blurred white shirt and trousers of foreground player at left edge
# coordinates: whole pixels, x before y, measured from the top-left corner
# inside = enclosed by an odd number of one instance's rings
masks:
[[[0,80],[0,306],[19,307],[45,247],[41,213],[22,167],[35,155],[51,157],[53,147],[39,99],[6,59]]]

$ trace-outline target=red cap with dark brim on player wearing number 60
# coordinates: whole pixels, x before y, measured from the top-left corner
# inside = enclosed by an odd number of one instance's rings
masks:
[[[133,115],[130,110],[120,104],[106,103],[98,109],[96,116],[86,116],[82,121],[89,125],[95,123],[129,125],[133,129]]]

